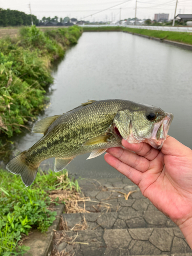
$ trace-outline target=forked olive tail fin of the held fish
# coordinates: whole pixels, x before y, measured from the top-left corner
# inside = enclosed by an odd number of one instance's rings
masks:
[[[30,186],[37,174],[39,164],[32,164],[26,158],[26,152],[14,157],[6,166],[12,174],[19,174],[26,187]]]

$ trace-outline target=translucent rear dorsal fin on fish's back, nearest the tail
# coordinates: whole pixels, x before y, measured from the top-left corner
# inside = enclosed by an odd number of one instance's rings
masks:
[[[56,115],[56,116],[48,116],[44,119],[41,119],[37,121],[34,126],[33,126],[33,133],[42,133],[45,134],[47,131],[48,127],[61,115]]]

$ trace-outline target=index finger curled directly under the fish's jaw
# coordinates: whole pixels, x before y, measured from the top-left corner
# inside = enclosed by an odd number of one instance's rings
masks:
[[[122,145],[127,148],[127,150],[134,151],[137,153],[137,155],[145,157],[150,161],[154,160],[160,152],[159,150],[156,150],[154,147],[144,142],[131,144],[122,139]]]

